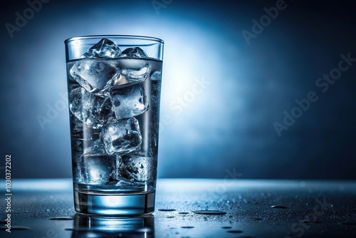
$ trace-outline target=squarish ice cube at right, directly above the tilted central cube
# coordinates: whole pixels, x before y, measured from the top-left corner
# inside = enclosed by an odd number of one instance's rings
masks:
[[[110,96],[117,119],[132,118],[145,113],[149,108],[142,83],[127,83],[113,87]]]

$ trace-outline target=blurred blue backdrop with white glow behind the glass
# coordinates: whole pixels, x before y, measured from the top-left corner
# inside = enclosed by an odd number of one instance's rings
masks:
[[[165,43],[159,177],[224,178],[235,171],[241,178],[356,179],[356,62],[325,93],[315,86],[340,54],[356,58],[355,7],[286,5],[248,45],[241,31],[251,31],[252,20],[276,1],[173,0],[156,11],[150,0],[51,0],[13,38],[5,25],[29,6],[5,1],[3,164],[11,154],[12,177],[70,177],[63,41],[135,34]],[[198,81],[207,83],[199,88]],[[283,123],[283,111],[311,90],[318,101],[278,137],[273,123]],[[61,110],[43,129],[37,116],[47,117],[48,105]]]

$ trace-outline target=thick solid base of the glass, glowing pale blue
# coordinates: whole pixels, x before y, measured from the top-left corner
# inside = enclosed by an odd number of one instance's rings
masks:
[[[155,191],[150,192],[83,192],[74,190],[76,212],[104,215],[146,215],[155,211]]]

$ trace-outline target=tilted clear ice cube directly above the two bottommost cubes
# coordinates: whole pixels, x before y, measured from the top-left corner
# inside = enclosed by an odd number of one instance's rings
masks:
[[[103,126],[100,139],[109,155],[114,153],[127,154],[140,150],[142,136],[136,118],[122,119],[117,123]]]

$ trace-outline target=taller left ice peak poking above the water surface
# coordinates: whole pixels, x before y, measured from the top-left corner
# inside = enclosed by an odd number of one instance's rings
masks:
[[[121,50],[115,42],[103,38],[80,58],[117,58],[120,54]]]

